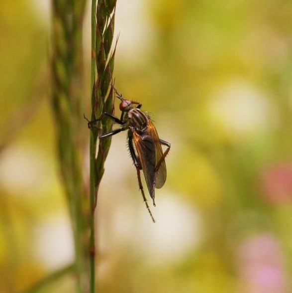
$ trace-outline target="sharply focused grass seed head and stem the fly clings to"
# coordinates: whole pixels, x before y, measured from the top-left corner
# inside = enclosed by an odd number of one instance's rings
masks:
[[[93,0],[92,2],[92,115],[96,120],[102,112],[113,111],[112,89],[108,91],[112,79],[115,48],[111,52],[113,40],[116,0]],[[95,212],[99,183],[104,173],[104,162],[109,151],[111,138],[98,141],[99,132],[107,132],[112,127],[108,120],[101,120],[92,128],[90,136],[90,292],[96,292],[96,241]]]

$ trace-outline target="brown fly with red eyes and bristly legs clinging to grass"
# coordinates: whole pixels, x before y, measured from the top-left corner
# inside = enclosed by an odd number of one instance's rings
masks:
[[[149,194],[153,200],[153,205],[156,206],[155,188],[161,188],[165,183],[165,157],[170,150],[170,143],[163,141],[158,137],[156,128],[151,121],[150,116],[147,114],[147,112],[140,110],[142,107],[141,103],[124,99],[114,87],[113,89],[117,95],[117,98],[121,101],[119,104],[119,109],[121,111],[120,118],[117,118],[110,113],[104,112],[98,119],[94,121],[89,121],[87,119],[88,126],[91,128],[92,123],[100,121],[104,116],[110,118],[114,123],[120,125],[120,128],[100,135],[99,139],[107,138],[122,131],[128,130],[128,147],[131,158],[137,170],[139,189],[141,190],[143,200],[146,204],[152,221],[155,222],[149,205],[146,201],[140,170],[143,170]],[[164,152],[161,147],[162,145],[167,146],[167,149]]]

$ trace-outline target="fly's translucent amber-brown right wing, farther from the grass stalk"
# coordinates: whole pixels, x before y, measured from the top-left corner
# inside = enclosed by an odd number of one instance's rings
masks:
[[[148,130],[149,136],[151,136],[154,139],[155,143],[155,167],[157,167],[157,165],[160,163],[160,166],[155,175],[155,187],[161,188],[166,180],[166,164],[164,159],[161,161],[163,157],[162,147],[160,144],[156,128],[150,119],[148,121]]]

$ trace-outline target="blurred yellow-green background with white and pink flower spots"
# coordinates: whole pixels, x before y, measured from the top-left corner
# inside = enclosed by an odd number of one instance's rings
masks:
[[[118,0],[115,85],[172,147],[153,224],[126,133],[112,138],[97,208],[98,292],[292,292],[291,15],[289,0]],[[74,260],[50,103],[50,17],[49,0],[0,1],[3,293]],[[84,140],[87,178],[86,123]],[[75,292],[74,276],[39,292]]]

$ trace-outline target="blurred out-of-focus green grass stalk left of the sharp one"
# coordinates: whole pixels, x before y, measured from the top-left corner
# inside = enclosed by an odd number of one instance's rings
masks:
[[[87,212],[82,176],[82,24],[86,0],[52,1],[52,110],[60,173],[75,244],[77,292],[89,288],[86,246]]]

